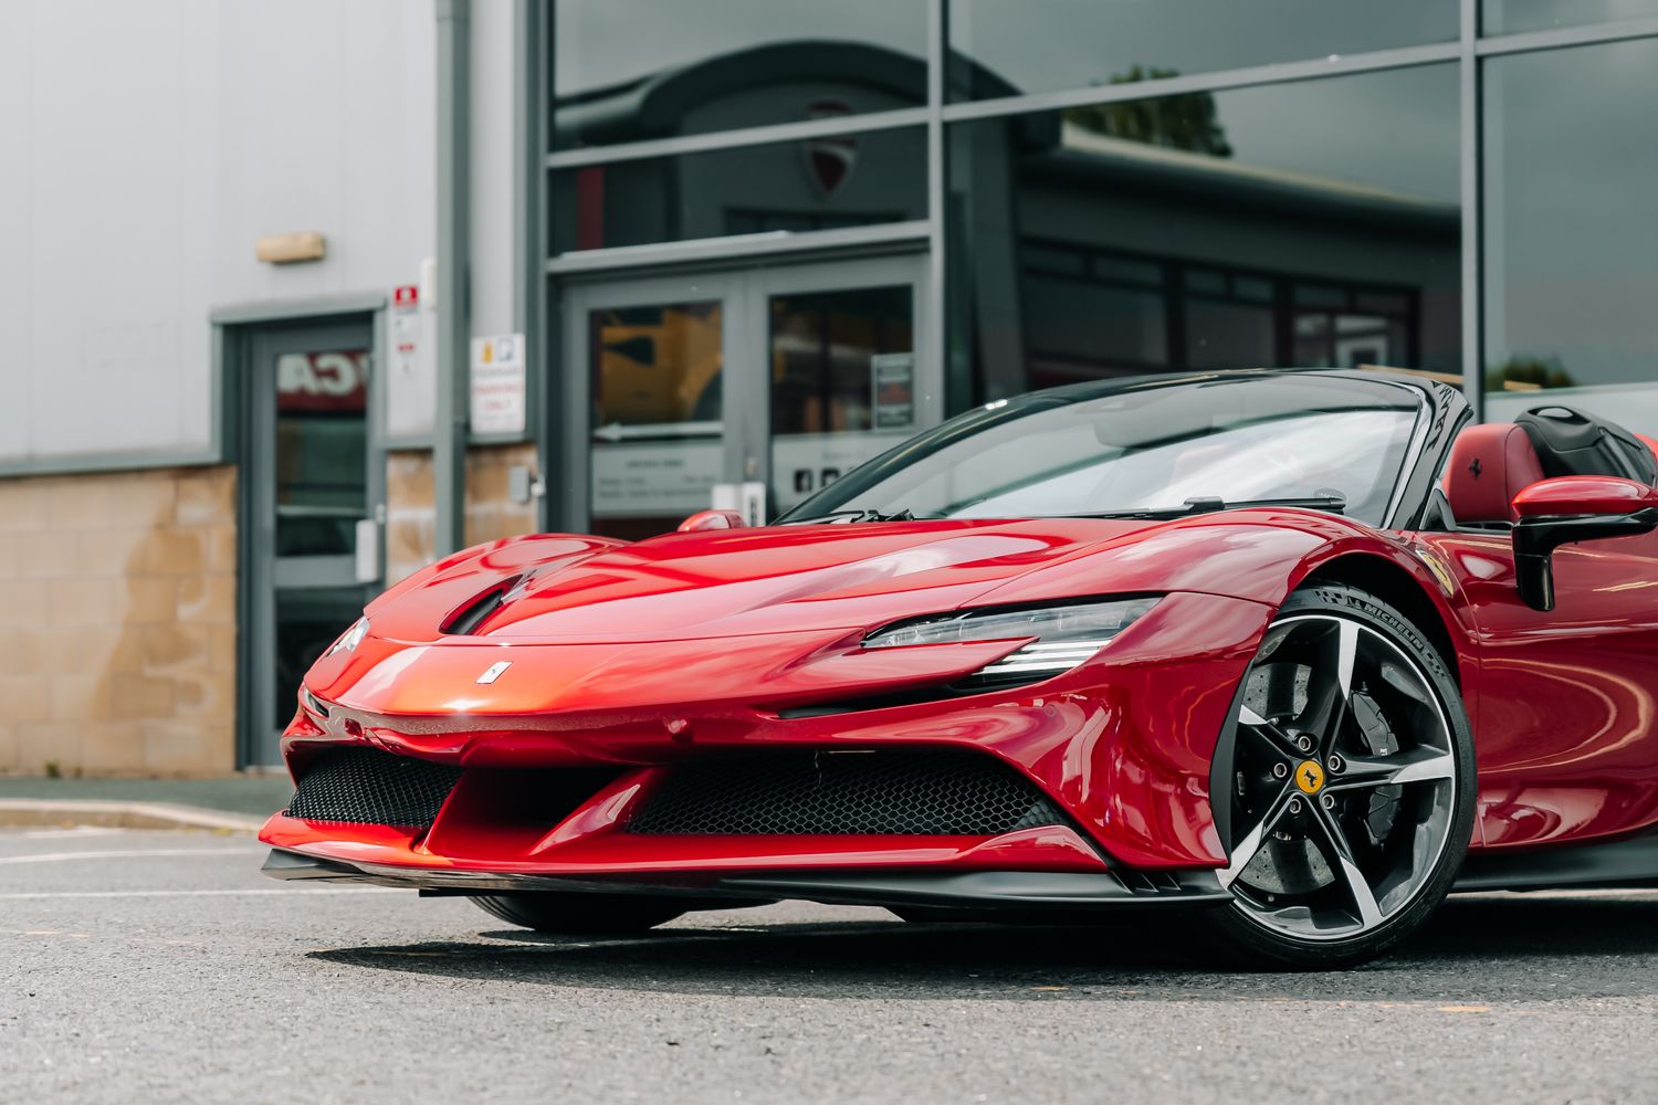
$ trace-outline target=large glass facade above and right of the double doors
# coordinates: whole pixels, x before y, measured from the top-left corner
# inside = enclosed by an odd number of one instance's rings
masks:
[[[557,0],[545,31],[552,302],[667,244],[930,249],[952,411],[1378,366],[1658,431],[1658,0]]]

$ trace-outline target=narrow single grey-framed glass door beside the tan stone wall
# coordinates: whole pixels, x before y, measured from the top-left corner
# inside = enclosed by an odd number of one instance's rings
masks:
[[[373,328],[288,325],[252,336],[249,432],[250,747],[277,764],[305,669],[380,585],[368,464]]]

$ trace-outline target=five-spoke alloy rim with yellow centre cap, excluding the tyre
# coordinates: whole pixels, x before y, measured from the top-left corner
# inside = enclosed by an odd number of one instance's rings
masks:
[[[1300,941],[1363,936],[1429,881],[1456,817],[1444,702],[1389,635],[1338,613],[1277,620],[1237,717],[1235,908]]]

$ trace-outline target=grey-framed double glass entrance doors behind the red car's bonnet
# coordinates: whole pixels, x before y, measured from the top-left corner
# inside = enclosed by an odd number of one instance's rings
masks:
[[[943,416],[925,258],[604,283],[565,297],[565,520],[638,540],[739,489],[776,517]]]

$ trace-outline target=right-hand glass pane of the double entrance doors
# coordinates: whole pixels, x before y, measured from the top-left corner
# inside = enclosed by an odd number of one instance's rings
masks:
[[[771,297],[771,482],[786,510],[915,432],[910,285]]]

